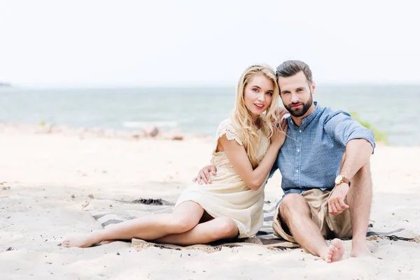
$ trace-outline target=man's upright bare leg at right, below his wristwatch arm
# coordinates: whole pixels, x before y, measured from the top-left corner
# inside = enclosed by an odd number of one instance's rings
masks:
[[[353,240],[351,241],[351,257],[370,255],[366,244],[367,225],[369,224],[370,207],[372,204],[372,178],[370,163],[367,163],[353,177],[347,202],[351,215]]]

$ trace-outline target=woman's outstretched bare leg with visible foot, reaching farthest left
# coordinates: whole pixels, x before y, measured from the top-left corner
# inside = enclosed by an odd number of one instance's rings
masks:
[[[188,232],[202,218],[204,209],[195,202],[179,204],[172,214],[155,214],[118,223],[104,230],[97,230],[85,235],[73,235],[64,238],[64,247],[90,247],[104,240],[115,239],[158,239],[174,233]]]

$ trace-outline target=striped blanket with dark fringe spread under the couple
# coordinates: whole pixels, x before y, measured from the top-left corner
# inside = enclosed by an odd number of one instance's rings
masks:
[[[92,203],[93,202],[93,203]],[[123,221],[131,220],[133,218],[138,218],[147,214],[162,214],[162,213],[171,213],[174,204],[167,202],[166,200],[160,199],[139,199],[132,200],[130,202],[126,201],[104,201],[100,203],[94,203],[95,200],[87,202],[83,209],[88,211],[92,217],[101,223],[103,228],[107,228],[116,223],[121,223]],[[112,204],[119,204],[122,210],[114,210],[109,208],[115,208]],[[101,205],[102,204],[102,205]],[[200,244],[192,246],[176,246],[172,244],[155,244],[153,242],[144,241],[141,239],[132,239],[132,246],[137,250],[142,248],[147,248],[150,246],[155,246],[159,248],[170,248],[175,250],[186,250],[186,249],[199,249],[207,253],[212,253],[215,251],[220,251],[223,246],[228,248],[234,248],[238,246],[264,246],[272,250],[286,250],[289,248],[299,248],[299,245],[290,243],[280,237],[274,235],[272,229],[272,221],[274,215],[274,209],[276,207],[276,202],[266,201],[264,204],[264,223],[262,228],[255,237],[242,238],[242,239],[232,239],[224,241],[216,241],[211,244]],[[102,209],[101,209],[102,208]],[[367,230],[368,240],[378,239],[378,238],[387,238],[391,240],[404,240],[404,241],[415,241],[420,242],[420,235],[416,235],[410,230],[405,230],[403,228],[392,230],[390,232],[383,232],[378,229],[375,229],[372,223],[369,225]]]

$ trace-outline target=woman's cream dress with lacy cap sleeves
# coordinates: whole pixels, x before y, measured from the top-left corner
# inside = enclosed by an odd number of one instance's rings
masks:
[[[258,162],[261,162],[269,147],[269,139],[261,130],[258,131],[258,134],[260,135],[260,146],[256,158]],[[218,139],[223,135],[242,145],[242,141],[232,125],[232,120],[223,120],[218,126],[216,145],[211,157],[211,162],[216,165],[216,176],[211,175],[211,184],[209,185],[196,183],[188,186],[181,193],[175,207],[186,201],[197,202],[214,218],[221,216],[232,218],[237,223],[239,238],[252,237],[260,230],[264,220],[262,207],[265,186],[261,186],[258,190],[248,188],[233,169],[225,152],[216,152]]]

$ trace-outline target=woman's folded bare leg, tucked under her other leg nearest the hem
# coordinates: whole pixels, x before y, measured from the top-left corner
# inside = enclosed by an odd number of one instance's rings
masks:
[[[236,223],[228,217],[219,217],[198,225],[188,232],[167,235],[153,240],[156,243],[176,244],[188,246],[193,244],[207,244],[221,239],[237,237],[239,230]]]

